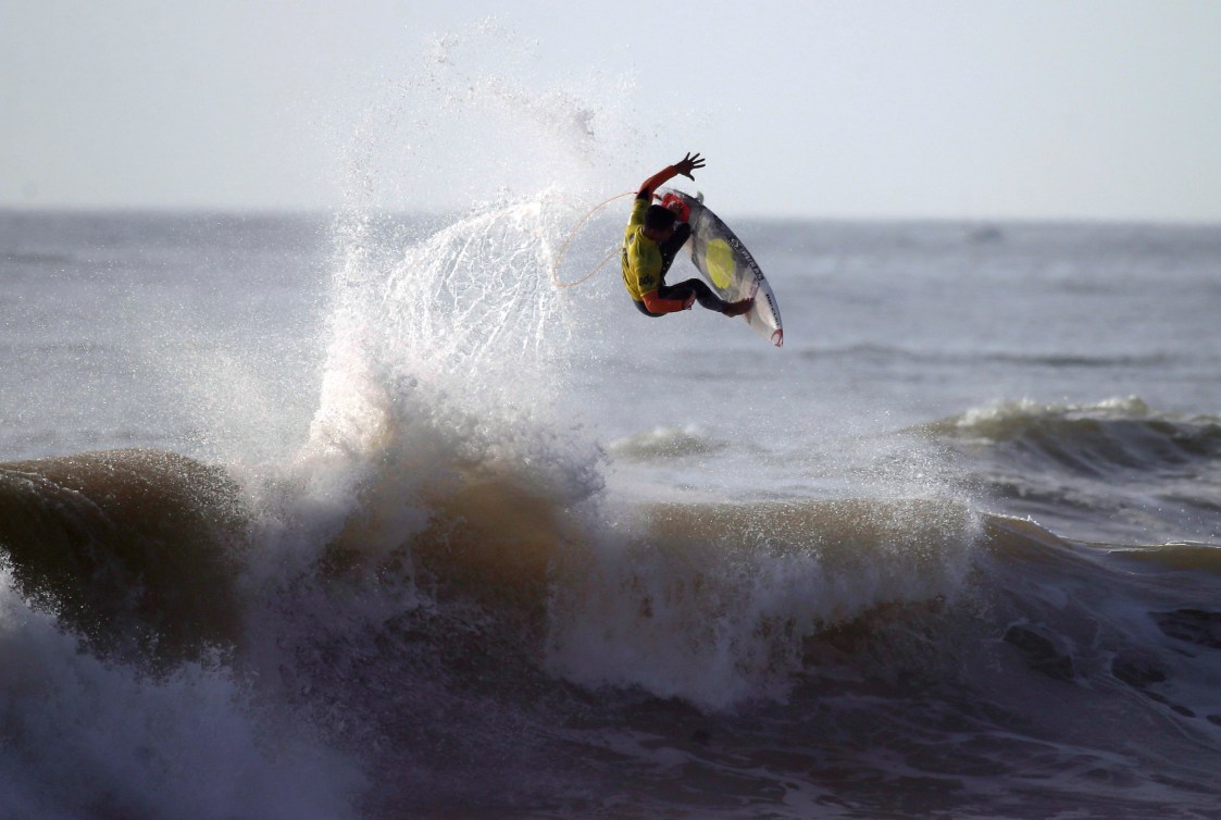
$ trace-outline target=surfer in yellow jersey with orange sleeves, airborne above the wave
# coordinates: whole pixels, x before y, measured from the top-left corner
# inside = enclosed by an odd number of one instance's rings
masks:
[[[678,222],[678,215],[669,208],[652,204],[653,192],[679,174],[695,181],[691,171],[701,167],[703,159],[700,154],[687,154],[645,180],[636,192],[623,237],[623,284],[636,303],[636,309],[646,317],[690,310],[695,302],[726,317],[740,317],[755,306],[755,299],[725,302],[698,279],[689,279],[678,285],[665,284],[665,273],[679,249],[691,237],[691,226]]]

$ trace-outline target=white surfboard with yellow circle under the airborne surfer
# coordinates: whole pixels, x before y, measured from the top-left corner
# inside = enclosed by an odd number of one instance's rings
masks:
[[[746,324],[777,347],[784,345],[780,306],[742,241],[701,199],[676,188],[662,188],[662,193],[676,197],[687,211],[691,262],[700,275],[726,302],[753,297],[755,307],[742,314]],[[665,202],[663,197],[663,204]]]

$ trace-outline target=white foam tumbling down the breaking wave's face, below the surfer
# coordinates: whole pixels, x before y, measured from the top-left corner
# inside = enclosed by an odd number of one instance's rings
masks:
[[[596,545],[560,571],[552,668],[714,710],[783,699],[819,628],[965,585],[978,522],[957,505],[808,510],[786,519],[744,506],[711,536]]]

